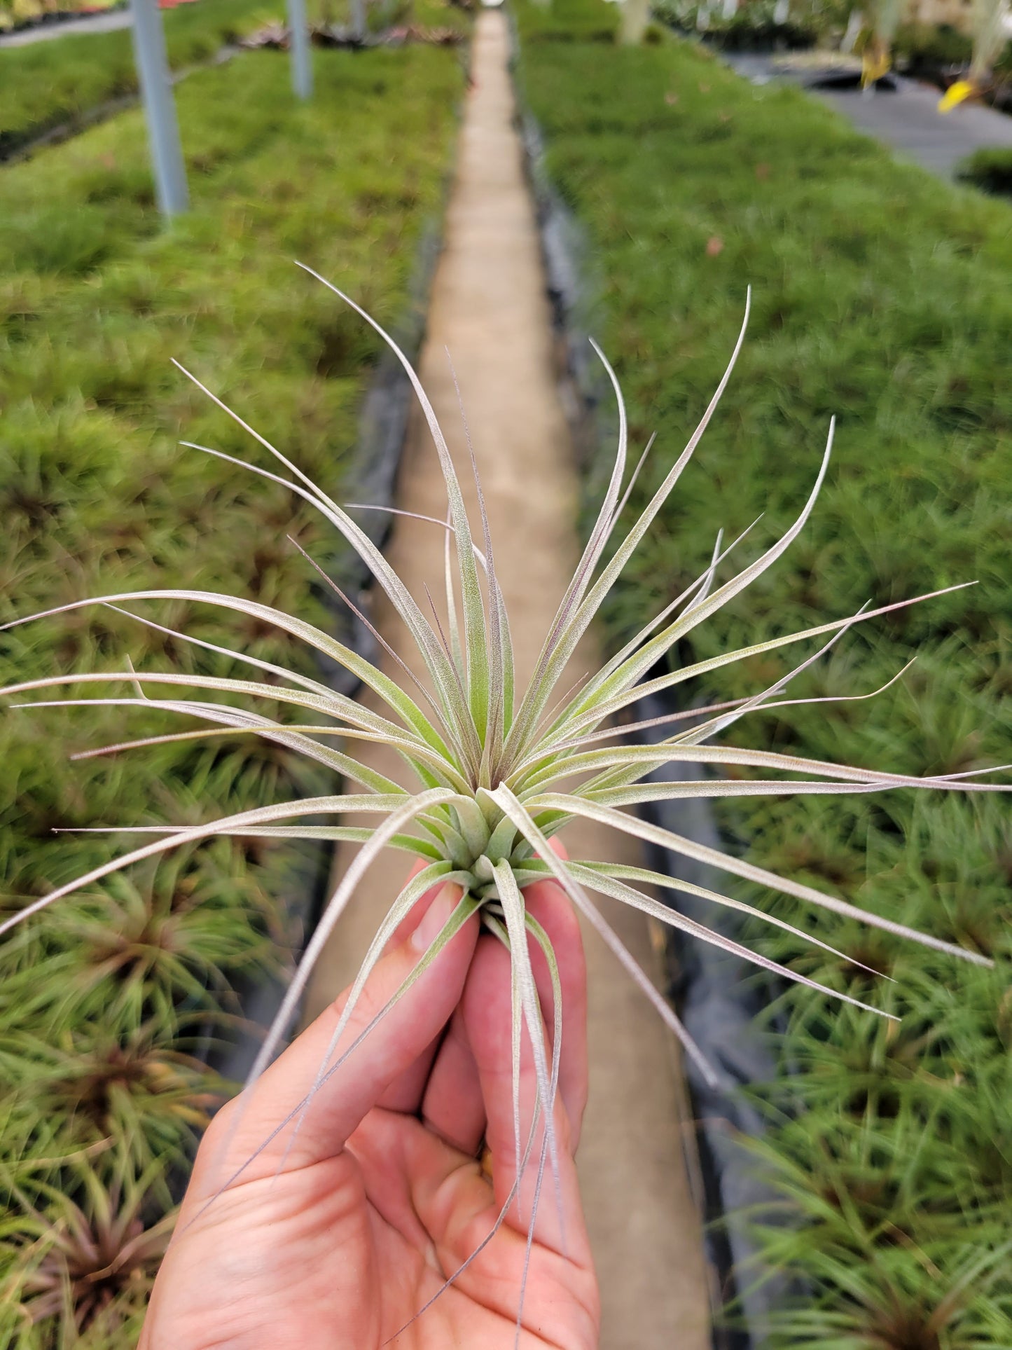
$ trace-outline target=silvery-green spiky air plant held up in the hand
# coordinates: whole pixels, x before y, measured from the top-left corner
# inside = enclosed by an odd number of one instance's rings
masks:
[[[309,269],[306,269],[309,270]],[[313,273],[316,277],[317,274]],[[322,281],[324,278],[317,278]],[[329,282],[324,282],[329,285]],[[331,288],[335,290],[335,288]],[[341,294],[336,292],[336,294]],[[345,298],[347,297],[341,297]],[[352,301],[348,301],[354,304]],[[358,305],[354,305],[358,309]],[[378,325],[364,315],[371,323]],[[124,751],[132,747],[151,745],[162,738],[202,737],[202,736],[260,736],[267,741],[305,755],[341,775],[351,790],[332,796],[313,796],[304,801],[285,802],[255,810],[228,815],[196,828],[167,828],[158,830],[152,842],[96,867],[76,882],[61,886],[50,894],[26,906],[18,915],[0,926],[0,932],[28,918],[43,907],[53,905],[63,895],[90,886],[101,878],[128,867],[140,859],[163,853],[182,844],[194,842],[215,834],[237,834],[271,838],[300,840],[351,840],[360,842],[360,849],[348,867],[339,887],[332,895],[322,918],[313,933],[301,964],[286,992],[281,1011],[270,1027],[258,1054],[252,1076],[256,1077],[275,1054],[282,1037],[291,1022],[306,980],[324,944],[333,932],[341,911],[362,880],[370,864],[381,849],[402,849],[412,855],[421,869],[403,887],[383,918],[375,940],[366,956],[345,1006],[340,1025],[331,1042],[328,1058],[320,1065],[316,1083],[308,1084],[306,1098],[286,1122],[293,1130],[305,1104],[318,1085],[335,1072],[347,1054],[368,1034],[368,1027],[352,1046],[337,1046],[356,1004],[363,984],[383,952],[397,926],[413,905],[433,886],[452,883],[460,887],[460,900],[436,937],[429,952],[422,959],[414,976],[397,991],[376,1019],[403,996],[409,984],[417,977],[467,919],[478,913],[482,922],[507,948],[513,968],[513,1052],[514,1052],[514,1119],[517,1176],[532,1162],[537,1153],[537,1188],[545,1166],[555,1169],[555,1137],[552,1129],[552,1102],[559,1077],[559,1050],[563,1034],[563,1008],[556,963],[551,944],[534,918],[525,911],[524,891],[528,886],[545,878],[555,878],[572,899],[576,909],[602,934],[607,945],[626,965],[638,981],[664,1021],[675,1030],[685,1046],[685,1052],[696,1060],[702,1072],[712,1077],[712,1071],[703,1061],[696,1046],[688,1040],[677,1017],[667,1002],[656,992],[653,984],[640,972],[631,956],[610,930],[603,917],[590,898],[598,892],[631,905],[638,910],[691,933],[706,942],[714,942],[729,952],[749,957],[785,980],[799,980],[814,990],[834,998],[857,1000],[843,994],[827,990],[761,954],[741,948],[718,933],[694,922],[675,910],[661,905],[644,890],[645,886],[687,891],[712,902],[716,906],[731,906],[749,910],[749,906],[715,891],[675,880],[665,875],[637,867],[614,865],[594,859],[563,860],[549,848],[551,836],[565,829],[567,822],[586,818],[598,825],[607,825],[626,834],[646,840],[664,849],[681,853],[711,864],[725,872],[746,878],[775,891],[803,898],[812,905],[823,906],[837,914],[862,919],[866,923],[911,941],[924,942],[954,956],[970,961],[989,964],[977,953],[946,944],[935,937],[919,934],[900,923],[876,914],[865,913],[839,898],[783,880],[770,872],[753,867],[735,857],[703,848],[691,840],[681,838],[665,829],[641,821],[623,807],[644,802],[676,796],[738,796],[752,794],[845,794],[870,792],[893,787],[920,787],[932,790],[961,788],[962,791],[1001,791],[999,784],[973,782],[973,775],[951,775],[946,778],[909,778],[897,774],[874,772],[865,768],[807,760],[787,755],[766,753],[731,747],[714,745],[712,738],[731,726],[739,717],[758,707],[779,707],[787,702],[781,698],[784,688],[796,671],[777,680],[772,687],[757,693],[753,698],[733,705],[696,709],[691,718],[672,714],[667,718],[634,722],[617,729],[613,718],[629,709],[645,693],[671,688],[696,675],[704,675],[716,667],[737,662],[760,652],[789,647],[831,634],[828,641],[842,634],[851,624],[874,618],[877,614],[897,609],[888,605],[881,609],[862,610],[843,620],[834,620],[808,628],[804,632],[777,637],[754,647],[726,652],[718,657],[675,670],[671,674],[646,678],[665,653],[684,634],[702,624],[750,582],[761,576],[788,548],[808,518],[822,482],[826,477],[830,444],[826,447],[822,466],[815,478],[808,501],[797,520],[787,533],[737,575],[718,585],[718,572],[733,551],[734,544],[725,548],[718,535],[712,559],[696,580],[631,641],[614,653],[610,660],[576,688],[563,691],[560,680],[578,641],[592,622],[602,601],[615,583],[623,566],[633,555],[638,543],[650,529],[657,513],[706,429],[721,394],[730,378],[734,362],[745,336],[745,323],[735,344],[730,363],[706,413],[685,448],[665,474],[660,487],[644,509],[640,518],[621,541],[613,539],[617,524],[629,500],[633,481],[642,464],[626,474],[626,427],[622,398],[615,377],[600,356],[615,390],[619,408],[619,435],[614,467],[605,491],[605,498],[590,532],[586,548],[572,580],[563,595],[555,620],[545,636],[533,676],[526,690],[514,684],[514,664],[510,641],[510,625],[503,605],[502,590],[495,571],[493,541],[488,537],[488,521],[482,498],[478,471],[471,456],[470,473],[474,474],[480,513],[480,539],[475,540],[472,522],[468,520],[460,479],[451,460],[447,443],[425,393],[410,369],[406,358],[382,329],[378,331],[390,343],[403,363],[421,406],[428,418],[436,447],[439,464],[445,479],[448,516],[445,521],[445,618],[440,620],[436,610],[432,614],[416,602],[403,580],[393,571],[379,549],[359,528],[348,510],[339,506],[317,487],[279,450],[270,446],[252,428],[247,427],[235,413],[225,408],[213,394],[204,390],[229,416],[243,427],[260,447],[281,463],[285,474],[275,474],[264,467],[246,464],[240,459],[220,455],[237,468],[248,470],[281,483],[314,506],[368,564],[375,580],[382,586],[399,618],[406,625],[426,672],[426,682],[402,666],[405,683],[398,684],[359,653],[333,637],[302,621],[296,614],[286,614],[267,605],[242,597],[221,595],[197,590],[143,590],[130,594],[104,595],[96,599],[77,601],[61,606],[61,613],[81,605],[121,605],[139,601],[192,601],[228,610],[237,610],[267,624],[277,625],[287,634],[306,643],[320,656],[336,660],[351,671],[364,686],[374,691],[383,706],[382,713],[374,713],[352,698],[335,693],[314,679],[285,670],[209,643],[212,651],[233,657],[236,662],[255,667],[269,676],[269,682],[256,679],[224,679],[197,674],[162,671],[135,671],[132,666],[121,672],[66,675],[32,680],[3,690],[5,695],[43,690],[49,686],[94,682],[97,684],[127,686],[127,690],[103,698],[101,702],[121,707],[152,707],[165,713],[175,713],[186,718],[210,724],[209,728],[169,733],[167,737],[148,737],[140,741],[104,747],[101,752]],[[600,355],[600,352],[599,352]],[[182,369],[182,367],[181,367]],[[193,377],[190,377],[193,378]],[[194,381],[196,382],[196,381]],[[198,383],[198,382],[197,382]],[[200,386],[204,389],[204,386]],[[219,451],[206,447],[193,447],[206,454]],[[649,446],[648,446],[649,451]],[[436,521],[441,526],[443,521]],[[743,536],[742,536],[743,537]],[[735,540],[735,543],[738,543]],[[932,594],[942,594],[940,591]],[[927,597],[918,597],[926,599]],[[904,603],[911,603],[904,602]],[[42,617],[42,616],[34,616]],[[152,622],[147,617],[134,616],[140,622]],[[19,620],[24,622],[24,620]],[[11,626],[11,625],[8,625]],[[165,632],[171,632],[165,629]],[[185,634],[171,632],[179,641],[196,641]],[[376,634],[378,636],[378,634]],[[385,644],[386,645],[386,644]],[[811,664],[826,647],[807,657],[797,670]],[[389,648],[387,648],[389,651]],[[390,653],[393,657],[393,652]],[[401,664],[398,662],[398,664]],[[147,690],[161,686],[181,686],[190,693],[188,697],[158,699],[152,702]],[[252,706],[239,706],[221,701],[202,701],[200,691],[247,699]],[[868,697],[868,695],[854,695]],[[294,721],[274,721],[256,711],[256,699],[287,705]],[[66,703],[67,701],[61,701]],[[40,706],[34,703],[31,706]],[[50,705],[51,706],[51,705]],[[637,732],[652,730],[660,724],[676,724],[683,717],[683,729],[665,728],[665,736],[658,744],[637,744]],[[673,734],[668,734],[673,730]],[[337,744],[335,744],[335,740]],[[401,756],[405,775],[410,783],[394,782],[367,765],[355,756],[355,745],[360,741],[383,742],[393,747]],[[646,778],[661,765],[680,761],[699,765],[696,779],[679,783],[650,783]],[[706,767],[741,765],[749,770],[765,770],[783,778],[761,779],[721,779],[706,776]],[[402,776],[405,776],[402,775]],[[800,775],[800,776],[799,776]],[[305,817],[335,817],[345,813],[374,813],[376,824],[371,829],[351,828],[341,824],[300,824]],[[765,922],[779,925],[797,933],[791,925],[772,914],[761,915]],[[541,1010],[532,973],[529,941],[537,944],[548,961],[555,987],[555,1026],[549,1044],[545,1045],[541,1033]],[[826,944],[810,938],[819,946]],[[828,950],[833,950],[831,948]],[[868,1007],[868,1004],[858,1004]],[[874,1011],[869,1007],[869,1011]],[[519,1056],[522,1037],[526,1035],[533,1050],[538,1085],[538,1111],[526,1138],[519,1130]],[[538,1118],[541,1125],[538,1125]],[[537,1131],[536,1131],[537,1127]],[[281,1127],[279,1127],[281,1129]],[[538,1137],[534,1149],[536,1133]],[[515,1192],[515,1183],[514,1183]],[[513,1196],[511,1196],[513,1197]],[[510,1197],[510,1199],[511,1199]],[[509,1202],[507,1202],[509,1203]],[[505,1214],[505,1211],[503,1211]],[[533,1222],[533,1220],[532,1220]]]

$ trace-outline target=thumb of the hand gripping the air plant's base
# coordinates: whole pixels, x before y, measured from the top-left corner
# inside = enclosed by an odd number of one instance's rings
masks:
[[[201,1145],[194,1181],[210,1162],[220,1187],[240,1166],[242,1177],[236,1181],[250,1181],[273,1176],[279,1166],[294,1170],[341,1152],[363,1116],[439,1035],[460,1002],[478,938],[474,915],[401,999],[386,1008],[418,968],[459,899],[459,887],[444,887],[414,932],[378,961],[328,1064],[335,1065],[370,1023],[382,1017],[308,1103],[305,1099],[324,1071],[348,990],[278,1056],[252,1088],[217,1114]]]

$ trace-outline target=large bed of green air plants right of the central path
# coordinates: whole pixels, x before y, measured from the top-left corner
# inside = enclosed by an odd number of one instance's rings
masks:
[[[622,379],[633,444],[658,432],[630,513],[702,414],[753,286],[737,371],[626,567],[611,641],[704,568],[718,529],[734,539],[764,513],[742,562],[783,532],[835,413],[834,460],[802,537],[694,630],[679,660],[976,580],[858,624],[792,686],[806,698],[869,694],[916,655],[887,691],[758,713],[733,736],[908,774],[1008,763],[1012,215],[897,165],[796,89],[746,84],[695,45],[615,47],[611,15],[598,0],[521,5],[518,65],[548,171],[587,240],[594,331]],[[808,655],[757,655],[691,697],[754,694]],[[854,964],[757,926],[762,950],[903,1018],[802,988],[779,996],[787,1033],[770,1041],[784,1076],[761,1092],[770,1133],[757,1148],[781,1202],[754,1219],[769,1266],[800,1292],[769,1343],[1012,1345],[1007,803],[909,792],[738,802],[721,826],[750,860],[996,961],[963,964],[739,892]],[[753,1277],[739,1272],[739,1285]]]

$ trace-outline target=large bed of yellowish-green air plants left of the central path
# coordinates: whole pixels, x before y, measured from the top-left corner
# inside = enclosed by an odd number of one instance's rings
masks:
[[[4,170],[0,622],[90,594],[175,587],[259,599],[332,630],[286,537],[328,566],[329,532],[287,489],[179,446],[270,463],[170,363],[340,494],[378,339],[293,259],[399,329],[441,209],[463,78],[457,54],[432,46],[324,51],[314,65],[305,105],[277,53],[179,88],[193,211],[170,232],[152,205],[139,112]],[[0,633],[0,679],[121,671],[127,657],[142,671],[247,676],[179,632],[318,678],[293,640],[244,614],[124,609],[163,626],[88,608]],[[131,686],[109,693],[130,697]],[[4,709],[0,913],[123,849],[123,836],[74,832],[193,824],[314,786],[283,748],[246,737],[70,759],[193,725],[154,706]],[[3,1345],[132,1343],[173,1179],[228,1091],[204,1052],[233,1029],[235,981],[283,964],[298,941],[283,900],[308,891],[317,859],[277,842],[190,848],[4,938]]]

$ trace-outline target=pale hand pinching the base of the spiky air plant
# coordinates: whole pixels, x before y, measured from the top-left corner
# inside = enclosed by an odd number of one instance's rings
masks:
[[[341,1048],[418,963],[457,895],[430,892],[398,929]],[[561,1222],[546,1168],[519,1346],[594,1350],[598,1284],[573,1164],[587,1100],[586,967],[561,888],[542,882],[525,900],[556,952],[564,1034],[555,1110]],[[530,952],[551,1026],[548,968],[533,941]],[[476,918],[320,1088],[294,1142],[282,1130],[217,1193],[306,1095],[345,998],[212,1123],[140,1350],[513,1350],[540,1130],[519,1211],[514,1202],[472,1264],[412,1320],[488,1235],[515,1180],[510,957],[479,934]],[[534,1102],[525,1038],[525,1141]],[[491,1179],[478,1161],[483,1141]]]

